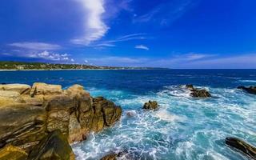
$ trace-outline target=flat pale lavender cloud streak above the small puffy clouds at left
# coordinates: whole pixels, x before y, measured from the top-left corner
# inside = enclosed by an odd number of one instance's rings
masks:
[[[18,48],[29,49],[29,50],[59,50],[62,46],[44,42],[14,42],[9,46],[15,46]]]

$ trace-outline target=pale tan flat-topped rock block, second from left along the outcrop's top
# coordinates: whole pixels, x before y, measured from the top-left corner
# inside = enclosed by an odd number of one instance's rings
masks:
[[[35,82],[30,90],[31,97],[62,94],[62,86]]]

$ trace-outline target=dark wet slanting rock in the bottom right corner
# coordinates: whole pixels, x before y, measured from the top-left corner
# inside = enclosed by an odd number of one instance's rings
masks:
[[[244,154],[248,155],[250,158],[256,159],[256,148],[242,141],[239,138],[226,138],[226,145],[232,146],[242,151]]]

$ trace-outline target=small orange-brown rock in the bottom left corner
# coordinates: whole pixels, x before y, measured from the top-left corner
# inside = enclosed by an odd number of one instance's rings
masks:
[[[1,160],[25,160],[26,158],[26,151],[17,146],[7,145],[0,149]]]

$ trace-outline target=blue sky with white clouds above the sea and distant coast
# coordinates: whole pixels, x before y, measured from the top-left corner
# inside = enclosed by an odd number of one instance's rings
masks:
[[[255,0],[2,0],[0,60],[256,68]]]

